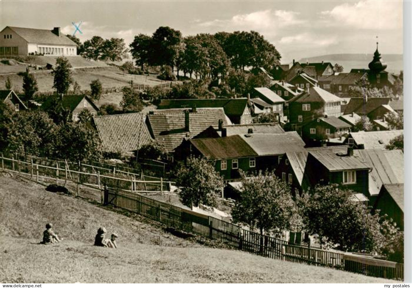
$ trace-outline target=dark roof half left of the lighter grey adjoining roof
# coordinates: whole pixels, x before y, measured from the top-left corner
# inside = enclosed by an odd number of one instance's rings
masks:
[[[258,156],[239,135],[190,139],[190,142],[203,156],[211,160]]]

